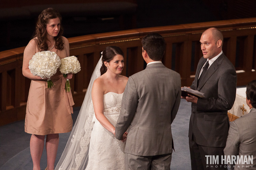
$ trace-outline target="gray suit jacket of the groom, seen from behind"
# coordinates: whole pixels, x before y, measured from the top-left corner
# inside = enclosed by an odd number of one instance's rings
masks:
[[[171,123],[181,100],[180,74],[162,63],[129,77],[115,136],[127,135],[125,153],[153,156],[172,153]]]

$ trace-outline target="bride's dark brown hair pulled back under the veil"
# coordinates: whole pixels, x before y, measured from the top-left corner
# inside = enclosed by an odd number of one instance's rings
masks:
[[[107,70],[104,62],[110,62],[113,60],[114,56],[116,55],[122,55],[124,57],[124,52],[116,46],[108,46],[106,49],[102,52],[102,66],[100,68],[100,75],[104,74]]]

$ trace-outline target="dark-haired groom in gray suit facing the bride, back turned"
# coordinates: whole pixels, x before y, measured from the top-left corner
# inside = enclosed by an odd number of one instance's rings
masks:
[[[126,170],[170,170],[173,148],[171,123],[180,105],[180,74],[166,68],[164,38],[156,33],[142,38],[145,70],[129,77],[115,127],[121,140],[128,130]]]

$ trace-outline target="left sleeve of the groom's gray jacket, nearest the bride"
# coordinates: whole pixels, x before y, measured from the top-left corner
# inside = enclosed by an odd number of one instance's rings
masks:
[[[115,137],[118,140],[122,139],[123,134],[130,126],[134,114],[136,113],[138,98],[136,84],[133,78],[129,77],[122,99],[121,113],[115,127]]]

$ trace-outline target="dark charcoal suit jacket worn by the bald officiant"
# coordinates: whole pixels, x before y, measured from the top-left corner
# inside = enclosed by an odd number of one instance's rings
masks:
[[[209,67],[198,85],[198,76],[207,59],[199,60],[192,89],[203,92],[204,99],[192,103],[188,137],[198,145],[225,147],[230,110],[236,99],[237,74],[234,66],[222,53]]]

